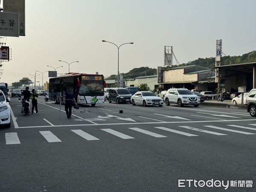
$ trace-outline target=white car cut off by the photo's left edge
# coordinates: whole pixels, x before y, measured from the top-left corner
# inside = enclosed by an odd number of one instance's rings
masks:
[[[11,127],[11,107],[7,102],[10,102],[10,98],[5,97],[2,90],[0,90],[0,125],[4,125],[6,128]]]

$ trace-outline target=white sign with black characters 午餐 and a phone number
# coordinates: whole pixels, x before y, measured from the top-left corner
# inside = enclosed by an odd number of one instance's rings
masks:
[[[19,36],[19,14],[0,12],[0,36]]]

